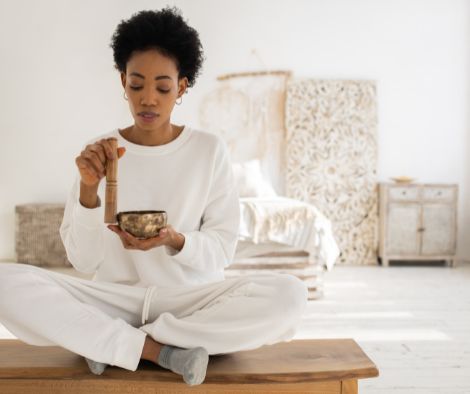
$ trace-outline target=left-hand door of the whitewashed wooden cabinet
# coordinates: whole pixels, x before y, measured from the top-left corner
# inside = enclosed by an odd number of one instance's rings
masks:
[[[391,203],[388,206],[388,255],[417,255],[419,253],[419,204]]]

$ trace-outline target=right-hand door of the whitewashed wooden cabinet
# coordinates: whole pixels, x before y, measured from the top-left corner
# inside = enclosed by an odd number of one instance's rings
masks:
[[[455,253],[455,212],[450,204],[423,205],[423,255]]]

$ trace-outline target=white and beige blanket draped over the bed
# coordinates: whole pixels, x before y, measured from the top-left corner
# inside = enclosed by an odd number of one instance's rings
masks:
[[[331,270],[339,256],[331,222],[315,206],[287,197],[240,198],[240,240],[277,242],[320,259]]]

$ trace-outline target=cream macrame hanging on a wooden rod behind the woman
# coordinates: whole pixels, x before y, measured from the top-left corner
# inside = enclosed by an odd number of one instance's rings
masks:
[[[259,159],[277,193],[285,179],[284,109],[290,72],[247,72],[220,76],[200,107],[201,126],[222,136],[232,161]]]

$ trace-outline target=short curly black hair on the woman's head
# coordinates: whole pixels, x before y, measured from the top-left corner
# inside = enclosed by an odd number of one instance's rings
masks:
[[[176,7],[140,11],[122,20],[110,47],[115,68],[124,73],[133,51],[157,49],[175,60],[179,77],[188,78],[189,87],[194,85],[204,61],[198,32],[185,22]]]

